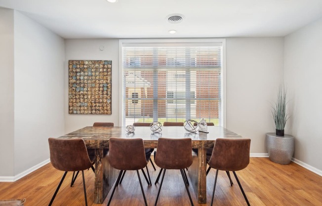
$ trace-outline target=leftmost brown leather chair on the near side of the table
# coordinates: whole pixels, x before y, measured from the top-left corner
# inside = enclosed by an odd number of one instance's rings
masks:
[[[93,162],[89,159],[86,145],[83,139],[57,139],[49,138],[50,162],[58,170],[65,171],[54,195],[51,198],[49,206],[53,203],[58,190],[63,183],[67,172],[81,171],[83,177],[85,205],[87,206],[86,186],[84,171],[89,169]]]

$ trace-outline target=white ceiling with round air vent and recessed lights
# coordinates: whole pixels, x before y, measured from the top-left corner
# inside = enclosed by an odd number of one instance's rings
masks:
[[[322,17],[322,0],[0,0],[0,7],[65,39],[281,37]],[[185,18],[168,23],[172,13]]]

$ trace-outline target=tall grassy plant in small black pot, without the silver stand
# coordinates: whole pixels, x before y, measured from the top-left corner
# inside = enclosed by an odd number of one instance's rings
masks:
[[[272,114],[276,126],[276,135],[284,136],[284,127],[286,121],[289,118],[288,112],[286,111],[286,92],[284,85],[280,85],[279,91],[277,94],[277,101],[272,109]]]

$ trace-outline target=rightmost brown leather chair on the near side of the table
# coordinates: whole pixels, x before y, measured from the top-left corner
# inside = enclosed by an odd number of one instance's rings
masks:
[[[233,171],[236,181],[241,189],[244,199],[249,205],[246,194],[236,175],[236,171],[244,169],[249,164],[250,139],[216,139],[212,155],[208,161],[210,167],[217,169],[213,185],[211,206],[216,189],[218,171]]]

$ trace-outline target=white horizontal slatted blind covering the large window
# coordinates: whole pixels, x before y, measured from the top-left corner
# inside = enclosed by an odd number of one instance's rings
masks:
[[[122,124],[183,122],[219,125],[221,44],[122,44]]]

